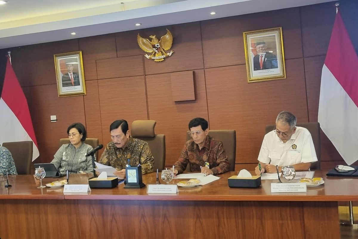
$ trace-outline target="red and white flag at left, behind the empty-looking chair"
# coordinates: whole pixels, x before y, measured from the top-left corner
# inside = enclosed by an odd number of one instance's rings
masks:
[[[28,140],[34,142],[32,155],[34,161],[39,157],[39,150],[29,106],[8,59],[0,98],[0,144]]]

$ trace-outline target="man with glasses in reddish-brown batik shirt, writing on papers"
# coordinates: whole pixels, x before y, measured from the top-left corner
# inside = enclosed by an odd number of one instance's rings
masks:
[[[194,118],[189,122],[189,135],[193,138],[184,145],[178,161],[174,164],[174,175],[182,173],[187,164],[190,171],[206,175],[227,172],[229,162],[223,144],[208,135],[208,121]],[[209,167],[205,167],[205,163]]]

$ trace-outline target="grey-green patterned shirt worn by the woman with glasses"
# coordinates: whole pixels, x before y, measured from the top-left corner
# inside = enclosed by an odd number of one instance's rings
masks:
[[[71,143],[63,144],[55,153],[51,163],[58,171],[63,169],[68,170],[69,173],[93,173],[92,156],[86,157],[92,149],[91,145],[85,143],[81,143],[78,148]]]

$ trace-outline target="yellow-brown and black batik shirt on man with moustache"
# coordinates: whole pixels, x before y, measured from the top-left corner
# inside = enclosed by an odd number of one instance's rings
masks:
[[[108,143],[99,163],[112,166],[117,171],[126,168],[126,164],[137,166],[140,163],[142,174],[146,174],[153,172],[154,158],[147,142],[129,137],[124,149],[117,148],[113,142]]]

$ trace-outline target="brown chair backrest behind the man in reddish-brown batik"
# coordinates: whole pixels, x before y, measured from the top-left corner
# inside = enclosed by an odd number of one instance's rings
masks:
[[[223,143],[227,160],[229,161],[229,171],[235,171],[235,159],[236,159],[236,130],[234,129],[222,129],[222,130],[209,130],[209,136],[217,139]],[[192,139],[187,131],[187,140]],[[186,169],[190,172],[189,164]]]

